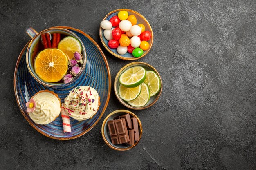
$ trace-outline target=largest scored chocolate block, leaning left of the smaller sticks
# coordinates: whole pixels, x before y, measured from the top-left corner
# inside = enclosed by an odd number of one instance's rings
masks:
[[[112,144],[123,144],[130,141],[125,119],[108,121],[108,130]]]

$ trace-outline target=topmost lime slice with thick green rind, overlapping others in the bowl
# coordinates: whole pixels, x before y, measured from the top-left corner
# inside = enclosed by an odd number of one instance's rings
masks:
[[[146,79],[146,70],[141,66],[128,68],[119,77],[119,82],[128,88],[137,87]]]

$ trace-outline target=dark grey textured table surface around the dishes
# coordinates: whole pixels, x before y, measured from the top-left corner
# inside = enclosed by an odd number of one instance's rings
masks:
[[[256,169],[256,1],[0,0],[0,169]],[[72,26],[103,49],[112,82],[128,61],[103,48],[99,23],[110,11],[128,8],[150,22],[151,51],[141,62],[162,76],[158,102],[134,111],[144,132],[126,152],[101,137],[103,119],[126,109],[111,92],[96,127],[70,141],[50,139],[24,119],[13,91],[16,60],[29,41],[25,29]]]

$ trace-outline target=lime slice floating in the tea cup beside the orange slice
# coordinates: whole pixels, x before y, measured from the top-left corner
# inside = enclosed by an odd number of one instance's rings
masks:
[[[82,53],[82,46],[74,37],[65,37],[58,43],[58,49],[67,54],[68,59],[74,58],[74,53],[77,51]]]

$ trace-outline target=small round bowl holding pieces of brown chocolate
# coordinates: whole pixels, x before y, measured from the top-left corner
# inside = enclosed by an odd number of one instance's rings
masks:
[[[115,110],[104,119],[101,134],[110,148],[125,151],[139,143],[142,124],[129,110]]]

